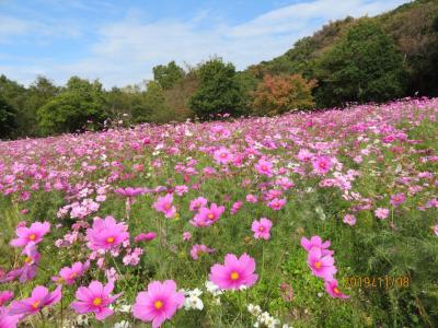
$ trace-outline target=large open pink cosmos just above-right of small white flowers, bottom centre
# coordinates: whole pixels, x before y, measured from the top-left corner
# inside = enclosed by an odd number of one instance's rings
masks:
[[[210,281],[222,290],[238,290],[242,285],[252,286],[258,279],[254,273],[255,260],[243,254],[239,259],[227,254],[224,265],[215,265],[210,269]]]

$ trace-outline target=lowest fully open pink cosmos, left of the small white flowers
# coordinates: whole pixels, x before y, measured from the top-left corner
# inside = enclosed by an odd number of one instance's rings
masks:
[[[137,295],[132,314],[142,321],[152,321],[152,327],[158,328],[183,305],[184,293],[176,292],[173,280],[152,281],[148,284],[148,291]]]

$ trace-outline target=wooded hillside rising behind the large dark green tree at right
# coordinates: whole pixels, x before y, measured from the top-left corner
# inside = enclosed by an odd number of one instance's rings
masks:
[[[368,17],[346,17],[324,25],[312,36],[299,39],[291,49],[269,61],[251,66],[247,70],[257,78],[266,73],[302,73],[315,78],[314,67],[345,32]],[[395,43],[406,62],[410,79],[407,94],[438,94],[438,1],[419,0],[403,4],[388,13],[369,17]]]

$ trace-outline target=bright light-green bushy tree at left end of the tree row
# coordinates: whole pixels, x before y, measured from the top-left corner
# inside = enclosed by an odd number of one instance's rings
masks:
[[[43,133],[82,130],[87,125],[105,119],[105,98],[102,84],[78,77],[70,78],[67,87],[37,110]]]

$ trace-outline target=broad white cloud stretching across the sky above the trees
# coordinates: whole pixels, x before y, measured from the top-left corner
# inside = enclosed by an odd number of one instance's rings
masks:
[[[64,83],[73,74],[100,78],[110,87],[148,79],[153,66],[173,59],[195,65],[218,55],[232,61],[238,69],[244,69],[284,54],[298,38],[319,30],[321,22],[347,15],[374,15],[404,2],[316,0],[283,7],[240,25],[222,22],[208,28],[203,27],[208,20],[206,12],[195,15],[189,22],[161,20],[145,23],[129,15],[123,21],[101,26],[89,58],[69,65],[36,62],[33,70],[43,70],[58,83]],[[14,28],[20,32],[26,27],[15,24]],[[15,79],[18,75],[30,75],[22,69],[14,73],[13,67],[2,69]],[[25,80],[28,81],[28,78]]]

